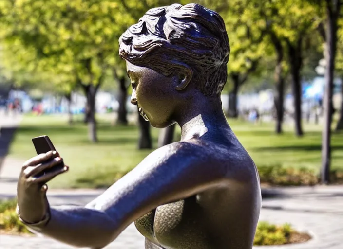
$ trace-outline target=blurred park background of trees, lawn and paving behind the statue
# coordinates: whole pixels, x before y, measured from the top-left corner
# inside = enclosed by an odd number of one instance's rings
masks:
[[[118,55],[118,38],[130,25],[148,9],[175,2],[0,2],[1,199],[15,196],[36,136],[48,135],[70,165],[68,174],[49,183],[49,192],[64,196],[53,194],[56,203],[71,202],[73,192],[96,196],[153,149],[179,140],[177,125],[158,130],[138,115]],[[299,249],[342,248],[343,242],[332,242],[343,235],[335,221],[343,215],[342,0],[192,2],[217,11],[226,23],[231,53],[223,109],[258,167],[260,220],[270,222],[260,223],[256,244],[305,241],[290,236],[283,225],[290,223],[311,236]],[[87,199],[82,195],[77,204]],[[3,203],[0,234],[22,235],[14,202]],[[138,236],[130,229],[129,244]],[[20,243],[0,236],[8,248]],[[40,242],[32,243],[38,248]]]

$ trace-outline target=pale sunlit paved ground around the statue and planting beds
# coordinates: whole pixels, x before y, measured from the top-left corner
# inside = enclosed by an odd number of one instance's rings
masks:
[[[0,116],[1,118],[1,116]],[[15,127],[19,122],[13,121]],[[11,126],[11,122],[7,122]],[[1,145],[1,136],[0,136]],[[0,199],[16,195],[16,183],[23,161],[5,158],[0,168]],[[104,190],[49,190],[51,205],[85,205]],[[306,243],[263,246],[254,249],[343,249],[343,186],[287,187],[262,189],[260,221],[290,223],[311,234]],[[0,235],[0,249],[72,249],[44,237]],[[144,249],[144,237],[131,224],[106,249]]]

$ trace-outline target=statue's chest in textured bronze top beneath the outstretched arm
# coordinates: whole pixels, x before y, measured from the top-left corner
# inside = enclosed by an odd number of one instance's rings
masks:
[[[137,230],[154,243],[168,248],[205,249],[203,212],[195,196],[158,206],[135,221]]]

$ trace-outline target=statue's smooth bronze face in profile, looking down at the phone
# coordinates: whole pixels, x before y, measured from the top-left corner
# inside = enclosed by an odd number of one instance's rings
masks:
[[[164,128],[172,124],[180,93],[175,89],[178,77],[166,77],[150,68],[126,61],[126,69],[133,92],[131,103],[137,105],[141,115],[153,127]]]

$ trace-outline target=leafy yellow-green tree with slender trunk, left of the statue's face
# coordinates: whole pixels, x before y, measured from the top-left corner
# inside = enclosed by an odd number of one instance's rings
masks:
[[[5,1],[3,38],[33,50],[47,72],[70,74],[87,97],[89,138],[97,141],[95,95],[120,60],[118,38],[133,23],[119,1]],[[137,7],[142,6],[136,2]],[[25,56],[21,54],[21,56]]]

